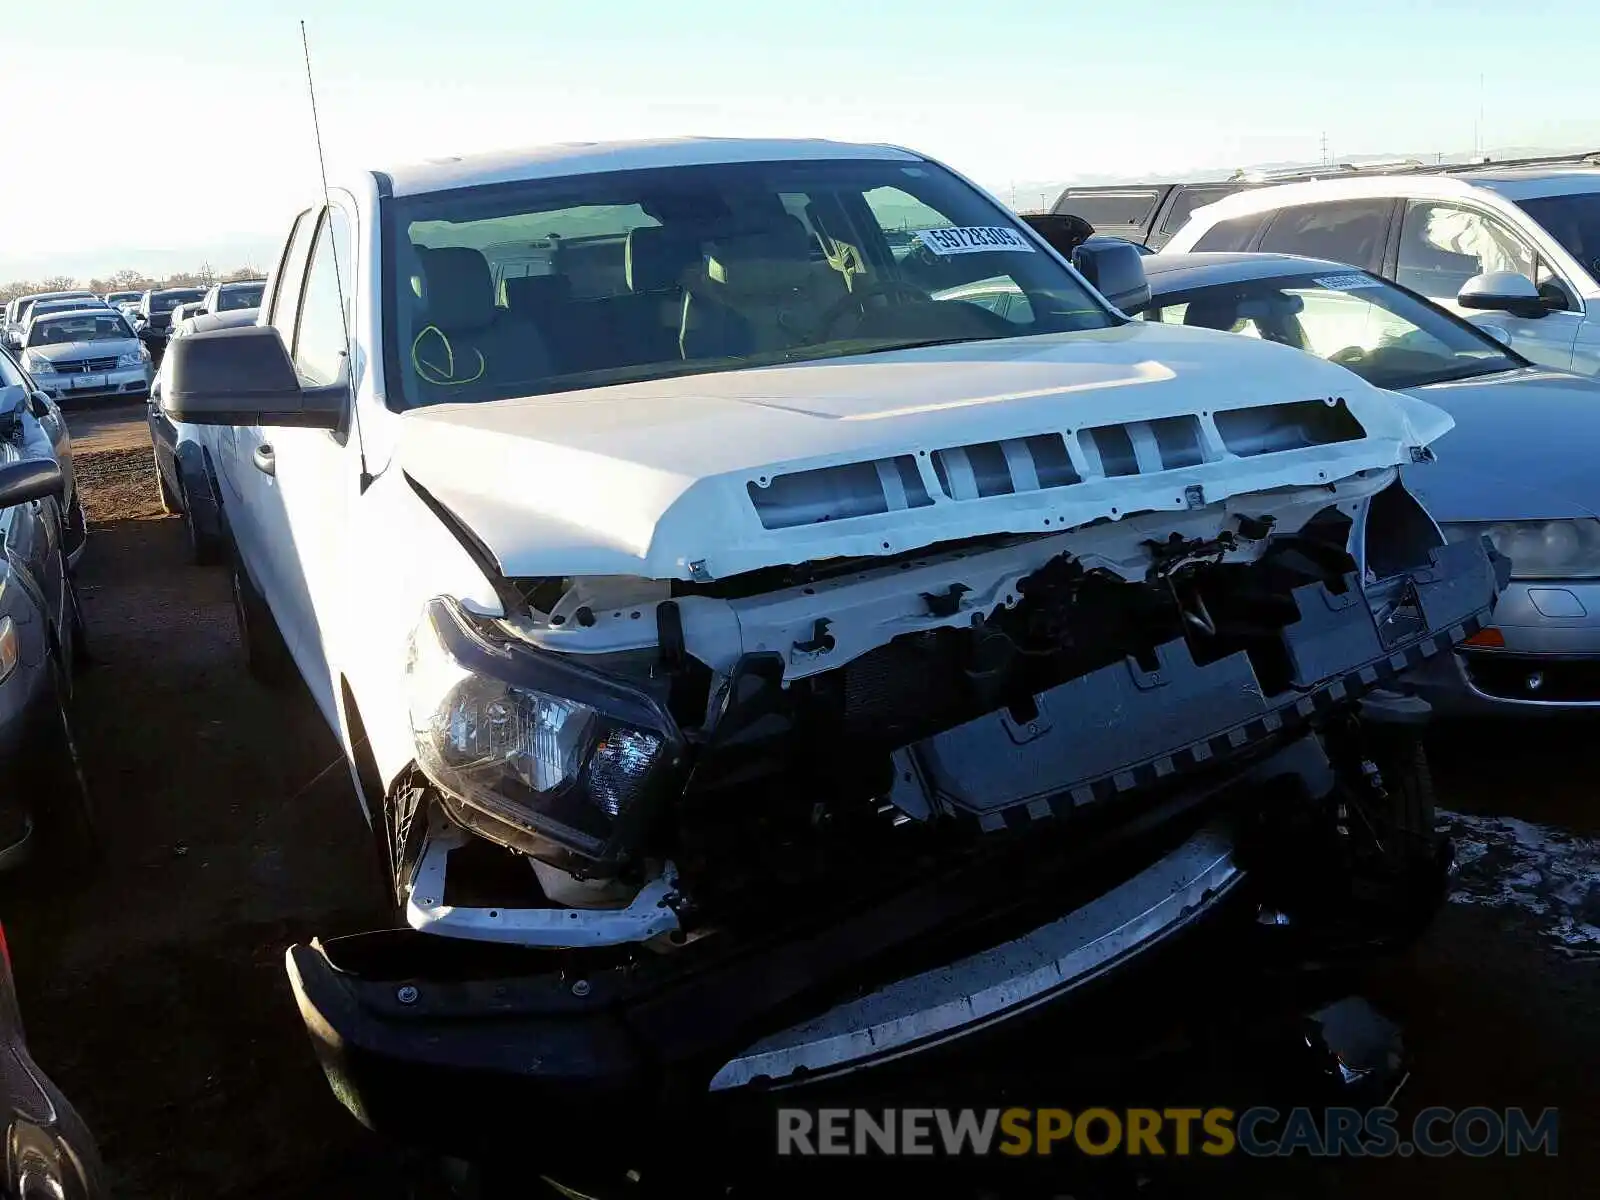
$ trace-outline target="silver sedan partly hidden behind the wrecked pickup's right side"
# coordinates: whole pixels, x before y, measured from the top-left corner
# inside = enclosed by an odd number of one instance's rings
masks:
[[[1512,584],[1493,626],[1411,674],[1418,694],[1450,715],[1600,710],[1600,384],[1338,262],[1158,254],[1144,269],[1146,320],[1307,350],[1456,419],[1406,486],[1451,541],[1488,536]]]

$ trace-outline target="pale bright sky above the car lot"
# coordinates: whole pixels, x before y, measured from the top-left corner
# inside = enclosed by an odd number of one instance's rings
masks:
[[[1027,208],[1082,178],[1318,162],[1323,134],[1336,158],[1475,134],[1600,149],[1592,0],[0,10],[0,282],[259,266],[318,187],[302,18],[331,174],[557,141],[822,136],[910,146]]]

